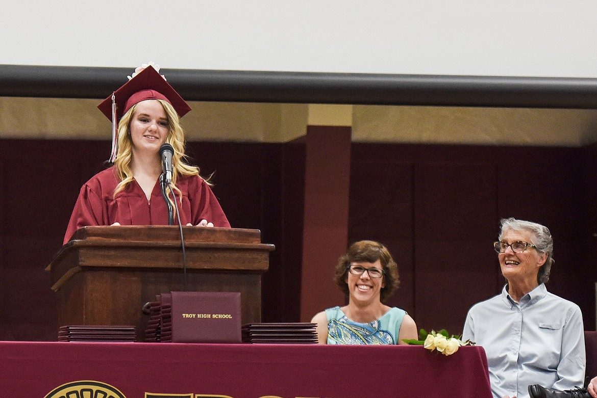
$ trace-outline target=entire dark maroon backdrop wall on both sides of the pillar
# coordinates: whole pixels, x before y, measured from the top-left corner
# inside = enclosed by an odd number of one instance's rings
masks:
[[[56,303],[43,269],[109,145],[0,140],[0,340],[56,338]],[[491,243],[499,219],[514,216],[550,228],[556,262],[547,288],[578,303],[585,327],[595,329],[596,145],[353,143],[350,153],[349,242],[375,239],[390,248],[402,279],[390,304],[419,327],[460,332],[470,305],[500,290]],[[260,229],[276,245],[263,280],[263,321],[298,321],[304,139],[192,142],[189,154],[203,175],[216,172],[214,192],[230,223]],[[329,266],[322,278],[332,278]],[[316,291],[310,300],[324,303],[326,295]]]

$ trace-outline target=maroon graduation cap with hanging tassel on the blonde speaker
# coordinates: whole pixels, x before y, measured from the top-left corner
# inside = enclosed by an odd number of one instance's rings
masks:
[[[139,73],[134,74],[133,78],[112,93],[110,97],[104,99],[97,105],[101,113],[112,121],[112,154],[110,161],[116,158],[116,132],[118,120],[134,104],[146,99],[163,99],[169,102],[179,117],[183,117],[190,111],[189,105],[180,97],[179,93],[166,81],[165,77],[156,71],[152,65],[148,65]]]

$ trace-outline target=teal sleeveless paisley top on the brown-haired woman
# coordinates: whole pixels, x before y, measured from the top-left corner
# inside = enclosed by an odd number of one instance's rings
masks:
[[[328,318],[328,344],[398,344],[398,334],[406,311],[392,307],[380,319],[361,324],[350,321],[340,307],[325,310]]]

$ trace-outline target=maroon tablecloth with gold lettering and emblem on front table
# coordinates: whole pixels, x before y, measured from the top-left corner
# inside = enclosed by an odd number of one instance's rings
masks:
[[[0,342],[2,397],[100,390],[106,398],[491,398],[482,347],[443,356],[420,346]]]

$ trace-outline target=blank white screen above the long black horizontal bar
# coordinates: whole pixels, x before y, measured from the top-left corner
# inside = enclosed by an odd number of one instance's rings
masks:
[[[592,0],[7,1],[0,64],[597,77]]]

